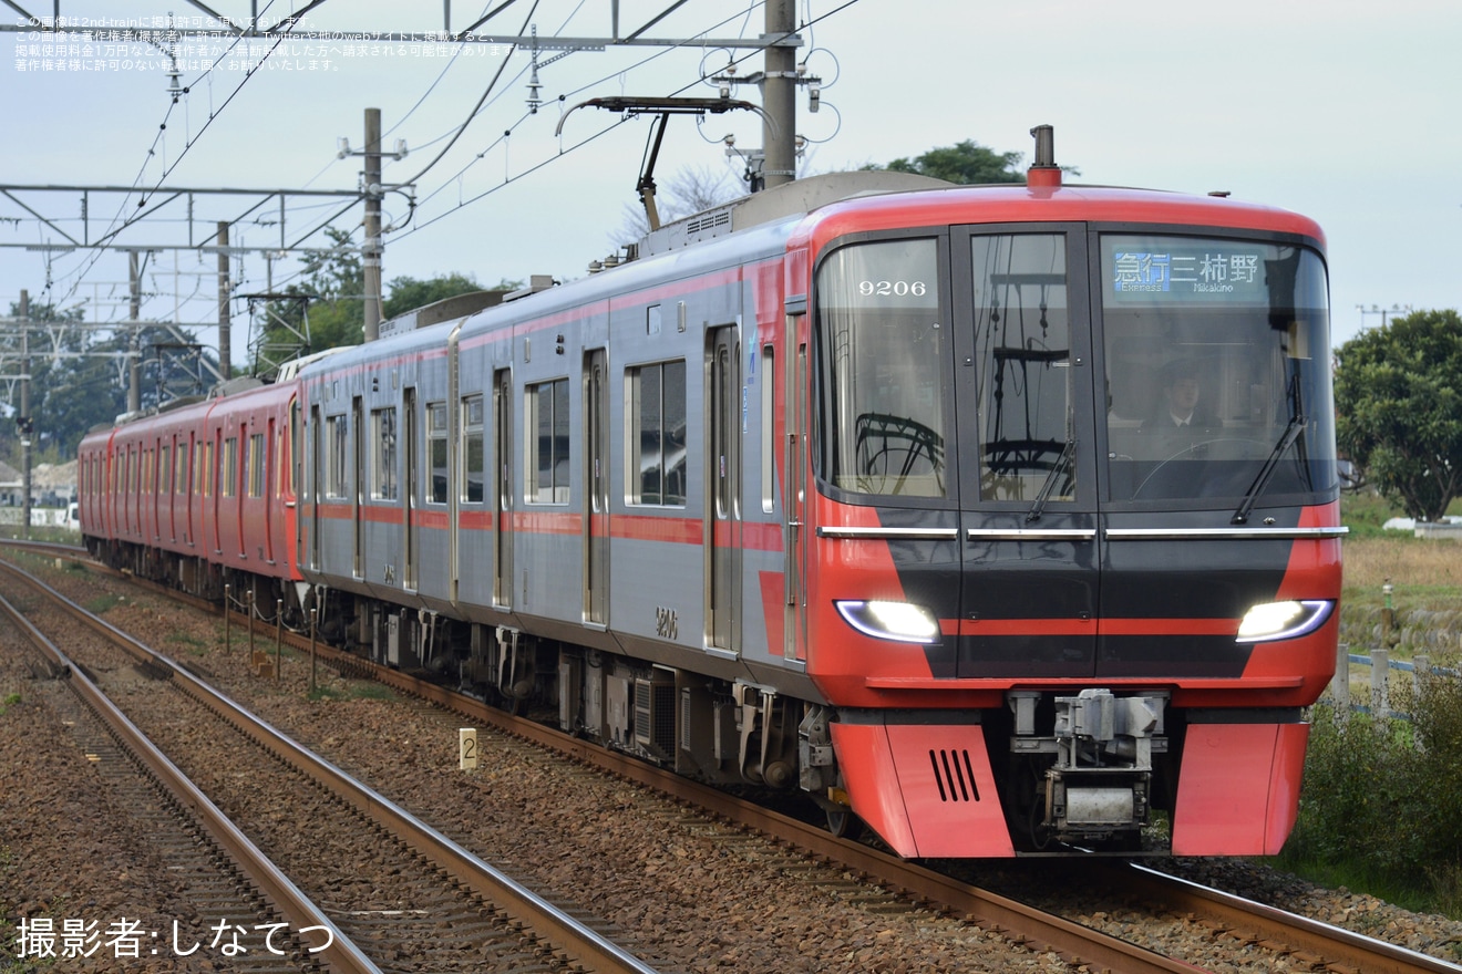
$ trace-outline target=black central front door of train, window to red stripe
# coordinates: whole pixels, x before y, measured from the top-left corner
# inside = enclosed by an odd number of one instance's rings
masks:
[[[958,676],[1095,672],[1091,329],[1067,280],[1085,251],[1076,228],[952,234],[955,396],[975,447],[961,453]]]

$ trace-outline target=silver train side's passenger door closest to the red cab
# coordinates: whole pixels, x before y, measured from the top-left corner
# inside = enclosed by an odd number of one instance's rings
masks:
[[[741,648],[741,381],[737,327],[706,343],[706,644]]]

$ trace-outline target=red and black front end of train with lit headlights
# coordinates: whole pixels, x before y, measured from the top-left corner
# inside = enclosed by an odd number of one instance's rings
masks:
[[[1038,165],[789,253],[804,787],[904,856],[1276,853],[1338,634],[1320,229]]]

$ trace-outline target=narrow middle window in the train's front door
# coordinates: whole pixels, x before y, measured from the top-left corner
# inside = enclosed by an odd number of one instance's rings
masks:
[[[1076,498],[1066,237],[971,239],[980,496]]]

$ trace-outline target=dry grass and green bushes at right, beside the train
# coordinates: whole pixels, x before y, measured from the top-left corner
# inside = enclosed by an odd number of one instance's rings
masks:
[[[1401,515],[1376,495],[1341,498],[1341,520],[1351,529],[1342,546],[1341,640],[1352,653],[1370,651],[1389,607],[1392,659],[1424,651],[1433,663],[1455,666],[1462,543],[1382,529]],[[1434,634],[1440,644],[1428,638]],[[1392,688],[1392,707],[1411,713],[1414,723],[1339,723],[1314,710],[1300,821],[1275,864],[1323,886],[1462,919],[1462,844],[1455,838],[1462,834],[1462,765],[1455,761],[1462,682],[1437,679],[1420,697],[1409,679]],[[1462,946],[1455,949],[1462,958]]]

